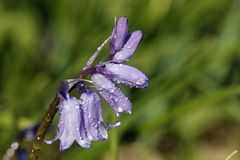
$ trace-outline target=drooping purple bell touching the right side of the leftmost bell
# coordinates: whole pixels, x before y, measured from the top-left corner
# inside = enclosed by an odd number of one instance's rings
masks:
[[[91,141],[107,139],[108,134],[103,122],[100,97],[92,92],[81,95],[87,137]]]

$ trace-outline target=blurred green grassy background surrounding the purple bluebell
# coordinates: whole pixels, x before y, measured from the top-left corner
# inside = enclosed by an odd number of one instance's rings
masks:
[[[1,0],[1,157],[123,15],[144,35],[127,64],[150,81],[147,89],[123,87],[133,112],[116,129],[120,160],[225,160],[240,149],[239,0]],[[113,112],[103,109],[110,122]],[[64,152],[59,142],[44,144],[39,159],[109,160],[110,143]]]

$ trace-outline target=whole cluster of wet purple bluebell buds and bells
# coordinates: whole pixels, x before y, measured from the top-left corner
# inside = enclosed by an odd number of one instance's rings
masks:
[[[135,88],[148,86],[148,78],[144,73],[122,64],[133,55],[141,38],[141,31],[128,33],[126,17],[121,17],[115,22],[111,36],[83,68],[83,73],[90,75],[91,80],[77,78],[62,81],[58,90],[60,99],[58,132],[55,138],[46,143],[50,144],[60,139],[60,149],[64,150],[74,141],[84,148],[89,148],[92,141],[107,139],[108,128],[117,127],[120,122],[114,124],[104,122],[100,96],[112,107],[116,116],[122,112],[131,113],[131,102],[119,89],[118,83]],[[93,66],[94,59],[108,40],[110,40],[109,59]],[[96,92],[87,83],[93,84]],[[72,89],[77,89],[80,93],[79,98],[69,94]]]

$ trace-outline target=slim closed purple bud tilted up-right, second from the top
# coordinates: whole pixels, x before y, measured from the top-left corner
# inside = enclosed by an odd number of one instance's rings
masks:
[[[142,39],[142,32],[141,31],[132,32],[129,39],[124,44],[122,50],[120,50],[119,52],[117,52],[114,55],[112,61],[117,62],[117,63],[127,61],[133,55],[135,50],[137,49],[141,39]]]

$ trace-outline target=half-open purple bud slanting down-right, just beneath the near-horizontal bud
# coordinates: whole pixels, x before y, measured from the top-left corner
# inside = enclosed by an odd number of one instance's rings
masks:
[[[99,94],[112,106],[117,116],[121,112],[131,113],[131,102],[111,80],[96,73],[92,75],[92,81]]]

